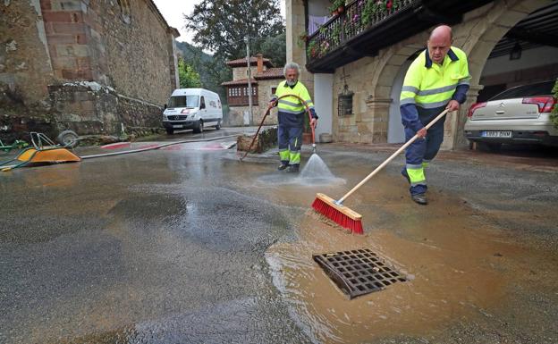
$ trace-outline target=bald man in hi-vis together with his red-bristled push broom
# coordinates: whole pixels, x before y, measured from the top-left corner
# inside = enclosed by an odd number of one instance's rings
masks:
[[[407,164],[402,174],[410,182],[410,196],[418,204],[426,205],[424,168],[444,140],[445,114],[458,110],[465,102],[469,79],[467,56],[452,46],[452,29],[447,25],[435,28],[427,49],[411,63],[403,81],[401,112],[405,144],[343,197],[335,200],[317,193],[312,203],[317,213],[353,233],[362,234],[362,215],[343,206],[343,202],[404,149],[407,149]]]

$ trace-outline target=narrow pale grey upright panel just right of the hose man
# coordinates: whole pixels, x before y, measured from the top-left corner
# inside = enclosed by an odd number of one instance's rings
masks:
[[[314,74],[314,107],[317,120],[316,141],[319,134],[332,134],[334,121],[334,74]]]

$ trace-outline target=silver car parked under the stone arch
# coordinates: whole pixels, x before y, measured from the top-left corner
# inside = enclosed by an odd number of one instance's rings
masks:
[[[466,137],[491,150],[504,143],[558,146],[558,129],[549,118],[556,104],[554,82],[506,89],[486,103],[472,105],[465,123]]]

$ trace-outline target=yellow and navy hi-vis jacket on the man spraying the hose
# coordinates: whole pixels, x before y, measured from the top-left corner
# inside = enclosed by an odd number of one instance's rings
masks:
[[[277,99],[285,95],[300,96],[300,98],[304,99],[306,104],[309,106],[312,117],[317,118],[316,111],[314,110],[314,103],[312,103],[309,91],[300,81],[297,81],[292,88],[287,85],[286,80],[281,81],[277,86],[273,99]],[[277,105],[279,109],[279,124],[292,127],[301,127],[304,125],[306,107],[300,102],[300,99],[295,96],[285,96],[284,98],[279,99]]]

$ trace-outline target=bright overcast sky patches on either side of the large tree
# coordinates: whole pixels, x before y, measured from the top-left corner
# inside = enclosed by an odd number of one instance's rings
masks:
[[[166,22],[173,28],[178,29],[181,37],[178,41],[191,43],[193,35],[184,29],[183,14],[190,14],[194,11],[194,4],[199,4],[201,0],[153,0],[157,8],[165,17]],[[281,14],[284,18],[284,0],[280,1]]]

